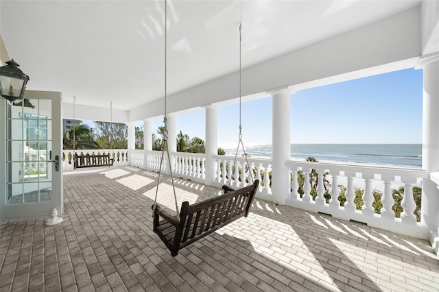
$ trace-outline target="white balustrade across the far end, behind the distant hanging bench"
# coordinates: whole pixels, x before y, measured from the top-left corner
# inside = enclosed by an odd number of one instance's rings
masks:
[[[75,153],[81,154],[108,154],[110,153],[110,158],[115,161],[113,165],[121,166],[128,165],[128,149],[75,149]],[[73,167],[73,150],[64,149],[62,150],[62,169],[71,170]]]

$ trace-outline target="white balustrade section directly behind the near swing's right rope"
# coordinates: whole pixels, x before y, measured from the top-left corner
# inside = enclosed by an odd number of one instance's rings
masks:
[[[259,180],[259,190],[257,197],[260,199],[271,200],[271,170],[272,160],[264,158],[239,157],[234,165],[235,156],[217,155],[214,156],[217,162],[215,183],[217,186],[223,184],[230,185],[232,188],[241,188],[252,183],[250,175],[254,180]],[[243,171],[245,169],[245,171]],[[250,173],[251,170],[251,173]]]

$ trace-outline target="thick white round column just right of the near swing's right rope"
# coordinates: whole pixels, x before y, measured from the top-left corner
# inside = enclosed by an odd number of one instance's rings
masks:
[[[289,96],[293,90],[281,88],[270,92],[272,95],[272,200],[275,204],[285,204],[289,196],[289,168],[285,162],[291,158]]]

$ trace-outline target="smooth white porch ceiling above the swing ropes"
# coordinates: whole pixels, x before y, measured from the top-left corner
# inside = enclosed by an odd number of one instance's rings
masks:
[[[164,95],[164,1],[0,0],[0,33],[27,89],[131,110]],[[167,93],[330,38],[419,0],[168,1]],[[2,60],[3,62],[5,60]]]

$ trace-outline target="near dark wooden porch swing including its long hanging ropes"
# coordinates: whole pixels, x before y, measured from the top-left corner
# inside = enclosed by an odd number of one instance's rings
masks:
[[[222,186],[223,195],[207,199],[196,204],[189,205],[189,202],[183,202],[180,210],[178,210],[176,189],[174,186],[174,175],[172,174],[171,160],[167,147],[167,86],[166,86],[166,67],[167,67],[167,1],[165,0],[165,131],[163,137],[162,156],[160,161],[160,169],[158,171],[156,195],[154,204],[152,205],[152,215],[154,217],[153,230],[161,238],[167,246],[172,256],[176,256],[178,251],[191,243],[202,239],[202,237],[211,234],[215,230],[226,226],[241,217],[247,217],[252,207],[253,199],[259,186],[259,180],[253,180],[252,171],[250,177],[252,184],[234,190],[230,188],[231,178],[229,178],[228,186]],[[244,144],[241,140],[241,25],[239,25],[239,145],[242,145],[244,157],[247,161]],[[238,154],[235,155],[235,163]],[[161,169],[163,158],[167,151],[167,161],[171,172],[171,182],[174,191],[174,199],[176,204],[176,215],[171,215],[161,206],[156,204],[158,185],[161,177]],[[248,161],[247,161],[248,165]],[[245,168],[244,168],[245,169]]]

